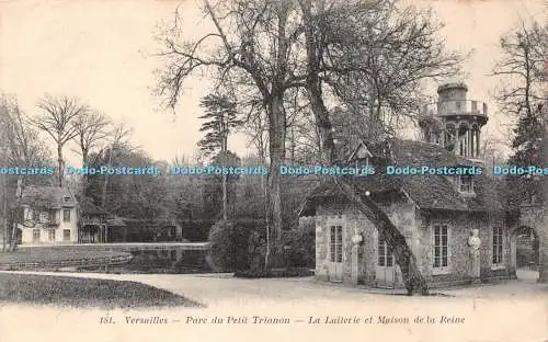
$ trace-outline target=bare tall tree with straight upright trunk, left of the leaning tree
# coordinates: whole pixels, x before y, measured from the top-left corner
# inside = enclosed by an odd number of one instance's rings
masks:
[[[289,18],[292,10],[293,1],[204,1],[215,31],[195,42],[181,42],[180,26],[167,32],[160,54],[167,58],[167,66],[160,72],[158,89],[167,96],[167,104],[174,107],[182,82],[198,70],[213,69],[220,82],[236,82],[240,90],[260,95],[269,122],[267,220],[278,242],[283,224],[278,170],[285,160],[286,142],[284,94],[297,81],[290,73],[290,59],[296,57],[292,57],[292,48],[299,29]],[[217,47],[214,54],[208,53],[212,44]]]

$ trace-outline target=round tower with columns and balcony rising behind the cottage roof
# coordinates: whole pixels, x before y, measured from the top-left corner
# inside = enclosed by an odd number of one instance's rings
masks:
[[[487,104],[468,100],[467,92],[465,83],[439,86],[437,103],[425,107],[419,124],[425,141],[439,144],[457,156],[480,161],[481,127],[488,121]]]

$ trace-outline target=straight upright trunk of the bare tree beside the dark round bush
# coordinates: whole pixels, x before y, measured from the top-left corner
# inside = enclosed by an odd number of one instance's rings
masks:
[[[270,104],[270,173],[269,173],[269,207],[267,220],[269,228],[274,236],[274,262],[279,265],[281,239],[282,239],[282,193],[279,167],[285,160],[285,111],[283,106],[283,94],[273,94]],[[265,265],[269,267],[269,265]]]

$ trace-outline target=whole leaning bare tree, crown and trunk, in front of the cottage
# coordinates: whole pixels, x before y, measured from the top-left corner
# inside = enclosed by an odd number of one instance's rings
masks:
[[[375,117],[384,107],[383,101],[388,102],[389,109],[397,109],[397,104],[404,103],[398,101],[390,103],[389,98],[386,98],[390,93],[397,93],[398,90],[404,92],[408,87],[418,86],[420,80],[450,76],[458,71],[460,57],[456,54],[445,54],[445,49],[442,48],[443,42],[436,38],[437,29],[432,26],[430,18],[413,11],[412,8],[406,9],[404,14],[398,16],[390,3],[385,7],[383,2],[375,1],[350,1],[344,4],[338,3],[339,5],[333,2],[328,5],[326,1],[318,1],[312,5],[311,0],[300,0],[299,3],[305,23],[307,50],[306,90],[320,130],[323,156],[327,162],[335,161],[335,145],[329,110],[323,95],[322,86],[324,83],[331,86],[335,90],[335,94],[344,101],[347,99],[347,92],[352,89],[340,87],[340,82],[333,82],[333,79],[342,79],[344,86],[349,79],[379,80],[376,77],[377,72],[384,68],[393,72],[389,83],[390,90],[386,94],[380,92],[381,88],[379,87],[373,94],[370,90],[365,96],[358,94],[357,100],[369,101],[369,105],[377,109],[376,112],[370,112],[370,115]],[[329,13],[334,14],[329,15]],[[389,23],[395,24],[390,25]],[[380,34],[369,41],[372,32],[380,32]],[[365,41],[363,41],[364,35]],[[341,44],[344,42],[346,44]],[[367,53],[367,47],[376,54],[365,55],[367,58],[363,59],[362,53]],[[384,48],[386,52],[383,52]],[[333,56],[339,56],[339,58]],[[395,58],[398,64],[390,65],[390,59],[387,57]],[[375,62],[379,60],[383,62]],[[326,64],[331,66],[331,70],[339,72],[331,78],[324,77],[319,71]],[[344,75],[350,77],[341,78]],[[398,75],[400,79],[396,77]],[[398,111],[395,113],[398,114]],[[377,118],[377,122],[380,123],[380,119]],[[395,251],[408,294],[427,294],[427,285],[416,265],[415,256],[406,238],[386,213],[366,193],[358,192],[344,178],[334,178],[333,181],[377,227],[379,236]]]

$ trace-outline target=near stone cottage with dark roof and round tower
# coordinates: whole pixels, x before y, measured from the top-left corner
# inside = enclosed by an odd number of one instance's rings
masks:
[[[482,167],[480,128],[487,106],[466,100],[466,91],[460,83],[438,88],[437,110],[425,109],[421,118],[422,141],[359,142],[349,159],[350,166],[375,168],[374,175],[346,179],[397,226],[431,287],[515,277],[511,232],[518,213],[484,170],[473,175],[389,174],[389,167]],[[403,286],[390,248],[334,182],[328,179],[315,189],[300,216],[316,218],[319,280]]]

